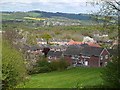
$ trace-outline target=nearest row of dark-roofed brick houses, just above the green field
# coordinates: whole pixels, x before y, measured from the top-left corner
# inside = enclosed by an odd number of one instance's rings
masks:
[[[27,50],[27,54],[31,54],[32,60],[40,55],[45,55],[48,62],[64,58],[70,65],[73,66],[88,66],[88,67],[102,67],[110,61],[111,51],[106,48],[90,46],[89,44],[74,44],[74,45],[41,45],[31,46]],[[30,59],[27,57],[27,59]]]

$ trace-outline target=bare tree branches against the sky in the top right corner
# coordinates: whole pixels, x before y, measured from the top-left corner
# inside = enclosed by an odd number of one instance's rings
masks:
[[[91,2],[86,2],[91,5],[101,5],[99,11],[103,15],[118,15],[120,11],[120,0],[92,0]]]

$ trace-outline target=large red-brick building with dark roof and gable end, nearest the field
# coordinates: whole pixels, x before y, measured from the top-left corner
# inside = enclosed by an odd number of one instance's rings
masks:
[[[63,54],[71,65],[88,67],[105,66],[110,57],[106,48],[91,47],[86,44],[70,45]]]

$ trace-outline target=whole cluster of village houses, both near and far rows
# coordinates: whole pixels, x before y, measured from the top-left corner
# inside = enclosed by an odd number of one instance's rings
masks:
[[[98,37],[107,37],[108,35]],[[30,65],[35,65],[39,57],[44,56],[50,63],[52,61],[64,58],[70,66],[87,66],[87,67],[103,67],[107,65],[113,55],[116,55],[117,40],[95,40],[85,36],[82,42],[68,40],[68,39],[50,39],[36,38],[36,45],[28,45],[25,43],[26,39],[22,38],[17,40],[23,43],[22,49],[24,50],[25,60],[30,60]],[[107,44],[111,47],[103,48],[101,44]]]

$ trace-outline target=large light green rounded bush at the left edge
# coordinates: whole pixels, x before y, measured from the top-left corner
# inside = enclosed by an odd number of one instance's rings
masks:
[[[3,40],[2,57],[2,88],[5,90],[13,89],[26,78],[22,54]]]

